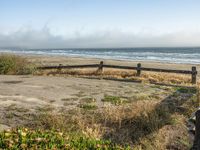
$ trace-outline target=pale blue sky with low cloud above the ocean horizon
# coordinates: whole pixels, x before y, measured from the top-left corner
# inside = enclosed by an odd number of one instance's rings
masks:
[[[0,0],[0,47],[200,46],[199,0]]]

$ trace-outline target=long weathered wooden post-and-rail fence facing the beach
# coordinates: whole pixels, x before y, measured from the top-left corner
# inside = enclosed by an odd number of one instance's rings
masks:
[[[129,69],[129,70],[136,70],[137,76],[140,76],[142,71],[190,74],[191,75],[191,83],[196,84],[196,82],[197,82],[197,70],[196,70],[195,66],[193,66],[191,70],[174,70],[174,69],[145,68],[145,67],[142,67],[142,65],[140,63],[138,63],[136,67],[107,65],[107,64],[104,64],[103,61],[101,61],[99,64],[90,64],[90,65],[63,66],[62,64],[60,64],[59,66],[38,67],[38,69],[41,69],[41,70],[44,70],[44,69],[75,69],[75,68],[98,68],[98,70],[100,70],[100,71],[103,71],[103,68]]]

